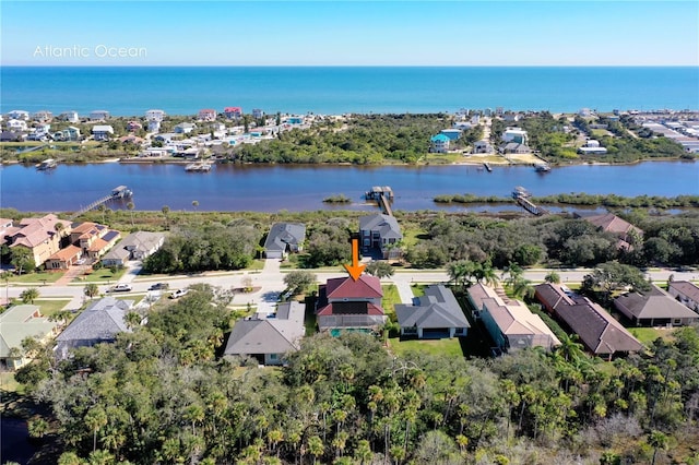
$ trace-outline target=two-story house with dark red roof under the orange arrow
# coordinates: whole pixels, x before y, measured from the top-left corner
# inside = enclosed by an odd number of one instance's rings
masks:
[[[381,299],[383,290],[376,276],[363,274],[328,279],[318,289],[316,315],[320,331],[333,336],[342,331],[371,331],[386,323]]]

